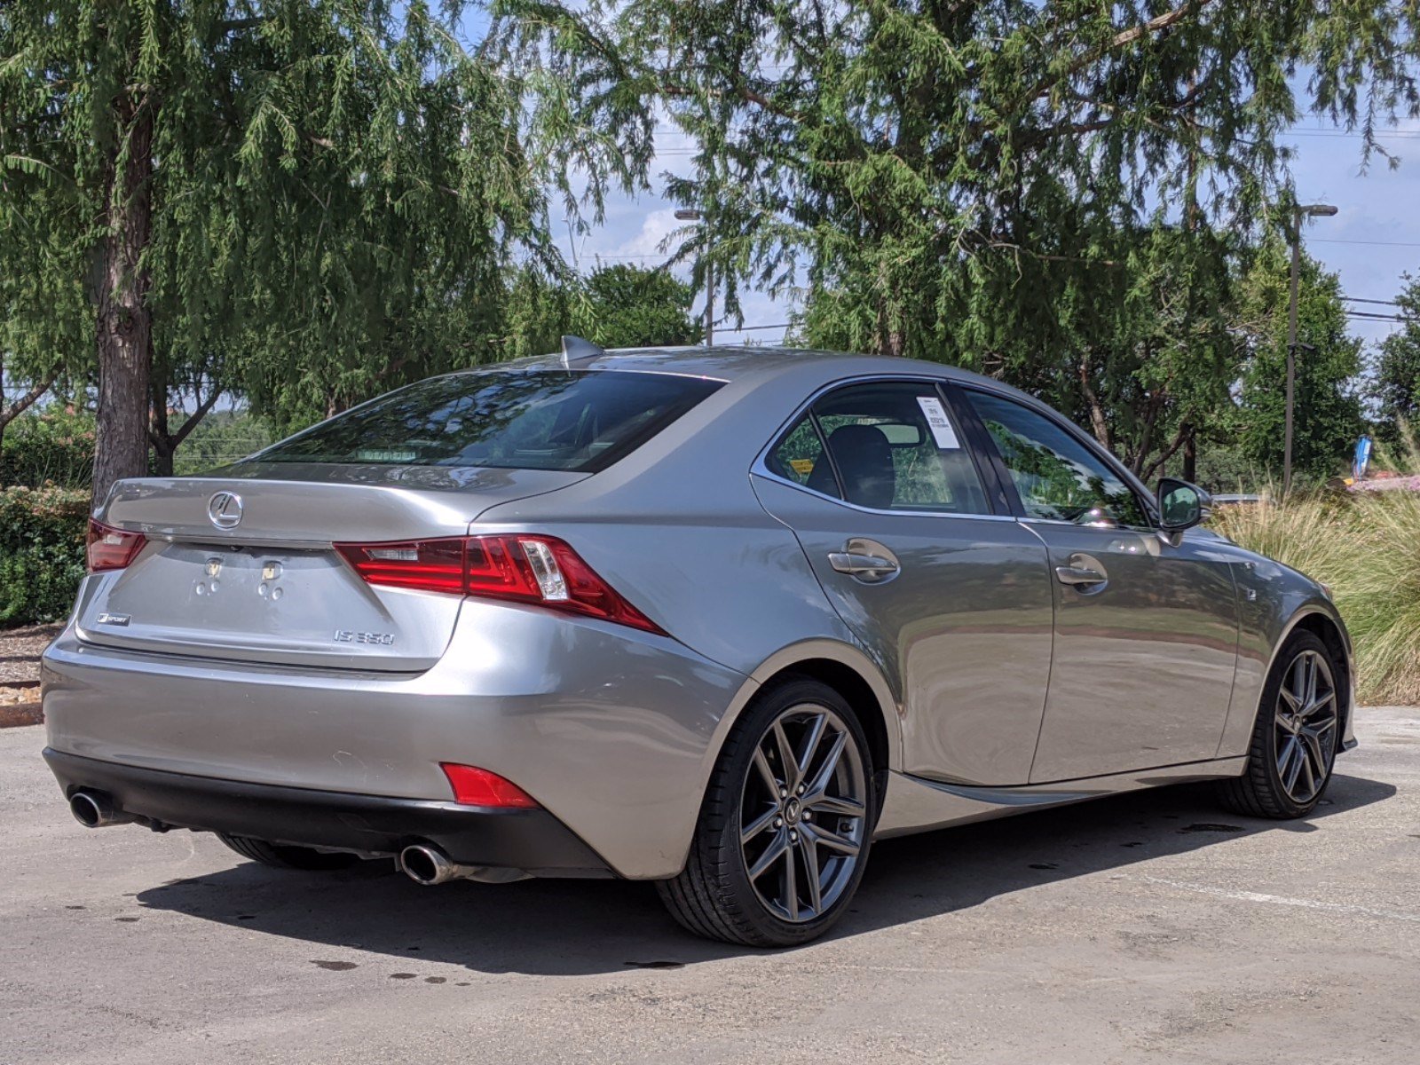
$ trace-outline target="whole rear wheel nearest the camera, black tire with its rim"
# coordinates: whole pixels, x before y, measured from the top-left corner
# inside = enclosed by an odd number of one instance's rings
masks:
[[[846,700],[816,680],[775,684],[730,730],[686,868],[656,883],[662,902],[706,939],[818,939],[862,880],[878,816],[872,782],[868,738]]]

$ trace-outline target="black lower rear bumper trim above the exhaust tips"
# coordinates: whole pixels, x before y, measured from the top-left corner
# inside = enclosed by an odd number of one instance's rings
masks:
[[[459,865],[535,876],[611,876],[605,862],[545,809],[351,795],[141,770],[44,750],[64,797],[102,792],[151,828],[230,832],[277,843],[395,855],[433,843]]]

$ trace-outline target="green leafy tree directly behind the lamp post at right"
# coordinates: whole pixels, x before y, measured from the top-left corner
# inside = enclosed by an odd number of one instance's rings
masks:
[[[1247,359],[1235,413],[1242,453],[1261,470],[1279,477],[1284,466],[1287,413],[1287,308],[1289,253],[1268,243],[1242,281],[1238,331]],[[1302,477],[1323,480],[1345,469],[1363,429],[1360,341],[1348,335],[1340,277],[1309,256],[1302,257],[1296,301],[1296,352],[1292,467]]]

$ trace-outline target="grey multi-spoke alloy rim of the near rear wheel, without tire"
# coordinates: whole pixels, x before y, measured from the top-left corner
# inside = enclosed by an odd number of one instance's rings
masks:
[[[799,924],[832,907],[853,880],[866,818],[863,760],[843,720],[809,704],[774,719],[740,801],[740,852],[765,909]]]

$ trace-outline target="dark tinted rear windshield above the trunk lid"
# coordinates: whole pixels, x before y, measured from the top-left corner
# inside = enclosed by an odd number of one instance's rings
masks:
[[[390,392],[251,462],[596,473],[720,383],[618,371],[454,373]]]

